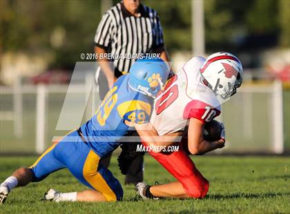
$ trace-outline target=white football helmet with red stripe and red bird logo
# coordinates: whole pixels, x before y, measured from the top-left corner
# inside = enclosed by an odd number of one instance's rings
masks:
[[[202,82],[222,99],[233,96],[242,84],[242,64],[229,52],[210,55],[200,68]]]

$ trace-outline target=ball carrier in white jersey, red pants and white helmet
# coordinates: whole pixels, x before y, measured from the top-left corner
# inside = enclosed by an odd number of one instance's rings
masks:
[[[151,151],[150,154],[177,182],[156,186],[138,183],[136,188],[139,195],[144,199],[203,198],[206,195],[209,182],[197,170],[189,153],[203,155],[224,147],[224,126],[220,140],[208,142],[204,139],[204,124],[220,115],[220,105],[234,95],[241,84],[242,64],[237,57],[227,52],[215,53],[207,59],[193,57],[167,82],[162,94],[155,99],[151,118],[154,128],[138,130],[138,133],[141,138],[142,135],[178,135],[188,124],[186,146],[189,152],[184,146],[182,148],[182,143],[179,143],[180,149],[173,153]],[[143,144],[152,145],[151,142]]]

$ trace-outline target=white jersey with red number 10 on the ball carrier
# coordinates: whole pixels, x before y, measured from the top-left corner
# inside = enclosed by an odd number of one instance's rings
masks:
[[[193,57],[184,64],[155,99],[151,124],[159,135],[184,130],[194,117],[208,122],[220,115],[220,103],[213,91],[200,81],[204,57]]]

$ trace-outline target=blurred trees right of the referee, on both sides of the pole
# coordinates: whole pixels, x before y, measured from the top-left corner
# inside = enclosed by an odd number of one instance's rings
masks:
[[[143,2],[159,13],[168,49],[191,50],[191,1]],[[285,46],[289,40],[289,30],[287,31],[290,21],[287,18],[289,2],[289,0],[204,1],[206,50],[238,52],[243,49],[257,50],[275,46],[280,30],[282,30],[280,41]]]

